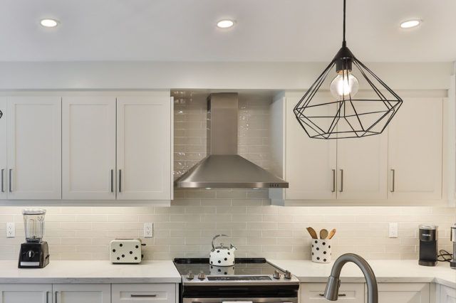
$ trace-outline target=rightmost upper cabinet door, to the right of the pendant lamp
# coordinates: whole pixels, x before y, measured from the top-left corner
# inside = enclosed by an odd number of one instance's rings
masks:
[[[442,98],[404,100],[388,135],[390,198],[442,198]]]

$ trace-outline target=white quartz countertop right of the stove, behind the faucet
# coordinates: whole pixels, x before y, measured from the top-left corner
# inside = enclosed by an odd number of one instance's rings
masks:
[[[301,282],[326,282],[333,263],[321,264],[309,260],[268,260],[282,270],[289,270]],[[435,282],[456,288],[456,270],[448,262],[436,267],[418,265],[418,260],[368,260],[377,282]],[[363,272],[347,263],[341,272],[341,282],[365,282]]]

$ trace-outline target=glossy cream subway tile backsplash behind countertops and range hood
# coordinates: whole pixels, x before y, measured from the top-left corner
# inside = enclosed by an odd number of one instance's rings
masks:
[[[175,92],[175,176],[206,155],[206,95]],[[239,97],[239,154],[269,168],[267,97]],[[237,257],[310,259],[306,227],[337,229],[333,257],[356,252],[369,259],[417,259],[418,225],[439,225],[442,249],[451,251],[450,225],[456,208],[437,207],[280,207],[266,190],[187,189],[175,191],[171,207],[46,207],[51,260],[108,260],[113,238],[142,238],[143,223],[154,223],[145,239],[145,259],[207,257],[212,237],[231,235]],[[22,207],[0,207],[0,260],[17,260],[24,242]],[[6,238],[6,222],[16,238]],[[388,238],[397,222],[399,237]]]

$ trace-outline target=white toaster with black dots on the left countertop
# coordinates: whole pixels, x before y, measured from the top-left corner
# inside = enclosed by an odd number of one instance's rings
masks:
[[[110,242],[111,263],[139,263],[142,260],[141,239],[119,238]]]

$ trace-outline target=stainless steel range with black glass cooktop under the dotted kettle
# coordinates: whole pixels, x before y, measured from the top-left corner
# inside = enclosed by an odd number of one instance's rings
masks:
[[[175,259],[182,275],[180,303],[298,302],[299,280],[264,258],[236,258],[217,267],[208,258]]]

